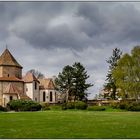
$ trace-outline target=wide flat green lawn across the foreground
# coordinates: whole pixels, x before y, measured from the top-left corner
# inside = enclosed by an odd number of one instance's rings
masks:
[[[140,138],[140,113],[0,113],[0,138]]]

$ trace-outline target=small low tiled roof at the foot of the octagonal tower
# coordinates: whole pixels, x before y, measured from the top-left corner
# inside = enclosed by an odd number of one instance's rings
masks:
[[[21,91],[18,90],[18,88],[14,84],[10,83],[7,86],[7,88],[6,88],[4,93],[5,94],[21,94]]]

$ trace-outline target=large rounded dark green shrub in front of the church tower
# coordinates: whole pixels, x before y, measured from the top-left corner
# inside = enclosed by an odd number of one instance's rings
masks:
[[[7,104],[8,108],[15,111],[39,111],[41,105],[34,101],[12,100]]]

